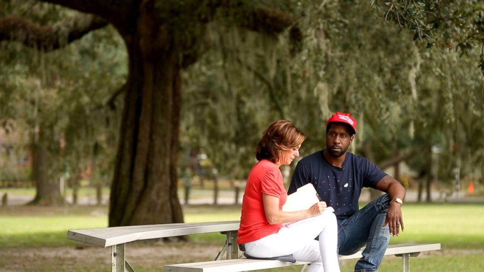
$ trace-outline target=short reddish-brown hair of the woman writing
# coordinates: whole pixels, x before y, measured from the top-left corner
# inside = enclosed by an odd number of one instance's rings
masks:
[[[257,145],[257,160],[268,159],[276,163],[282,150],[289,150],[302,144],[306,135],[294,126],[291,121],[277,120],[262,133]]]

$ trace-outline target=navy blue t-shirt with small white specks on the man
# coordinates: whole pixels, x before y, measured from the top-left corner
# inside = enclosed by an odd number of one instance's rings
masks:
[[[385,175],[365,157],[349,152],[342,167],[333,166],[326,161],[321,150],[298,162],[288,194],[312,183],[323,201],[333,207],[336,217],[344,219],[358,211],[358,199],[363,187],[375,188]]]

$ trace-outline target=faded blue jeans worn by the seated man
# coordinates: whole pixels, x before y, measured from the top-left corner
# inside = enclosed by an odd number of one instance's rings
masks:
[[[388,194],[383,194],[346,219],[338,219],[338,253],[351,255],[363,246],[363,257],[355,272],[375,272],[382,263],[390,242],[388,225],[383,227],[390,207]]]

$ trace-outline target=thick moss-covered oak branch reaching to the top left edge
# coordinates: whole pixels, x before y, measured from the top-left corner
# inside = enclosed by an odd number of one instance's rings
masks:
[[[52,26],[40,26],[22,17],[7,16],[0,19],[0,41],[9,39],[51,51],[107,24],[106,20],[93,15],[68,18]]]

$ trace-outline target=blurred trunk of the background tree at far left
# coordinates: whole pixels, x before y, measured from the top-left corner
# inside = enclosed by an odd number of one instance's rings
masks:
[[[29,204],[37,205],[61,205],[64,199],[61,196],[59,177],[49,173],[53,171],[51,156],[48,151],[49,137],[43,127],[39,129],[39,137],[34,141],[33,148],[33,175],[35,180],[36,195]]]

